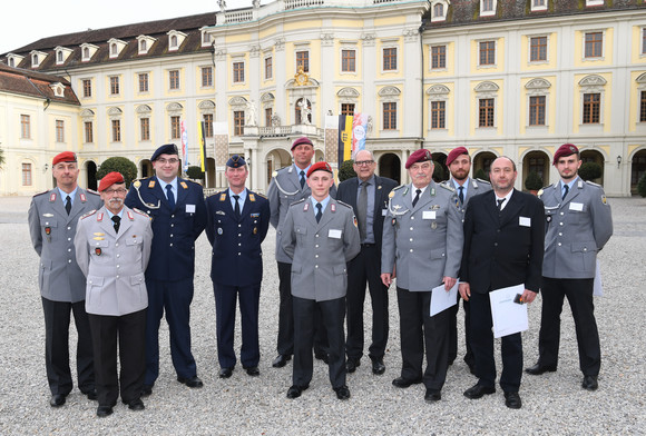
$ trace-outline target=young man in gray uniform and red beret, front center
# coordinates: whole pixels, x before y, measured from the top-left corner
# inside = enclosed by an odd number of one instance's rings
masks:
[[[330,196],[334,184],[327,162],[307,171],[312,196],[293,204],[281,228],[281,242],[293,260],[294,370],[287,398],[297,398],[312,380],[314,311],[321,310],[327,333],[329,371],[339,399],[350,398],[345,385],[346,262],[361,250],[352,207]]]

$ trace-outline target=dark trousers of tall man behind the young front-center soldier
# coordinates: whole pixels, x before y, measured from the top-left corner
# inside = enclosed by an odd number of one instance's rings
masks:
[[[278,262],[278,343],[276,349],[280,355],[294,354],[294,309],[292,304],[292,264]],[[327,353],[327,338],[321,320],[321,309],[314,313],[316,323],[314,334],[314,350],[316,355]]]

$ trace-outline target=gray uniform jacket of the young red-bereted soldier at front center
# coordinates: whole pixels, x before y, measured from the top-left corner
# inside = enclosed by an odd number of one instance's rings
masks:
[[[352,207],[330,198],[316,222],[306,198],[290,207],[281,241],[292,262],[292,295],[316,301],[345,296],[346,262],[359,251],[359,229]]]

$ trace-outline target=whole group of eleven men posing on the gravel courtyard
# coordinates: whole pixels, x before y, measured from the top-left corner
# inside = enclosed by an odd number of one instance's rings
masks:
[[[248,376],[258,376],[261,246],[270,225],[276,228],[280,280],[277,357],[272,365],[284,367],[293,357],[288,398],[310,386],[314,357],[327,364],[336,397],[350,398],[348,374],[358,370],[364,353],[366,287],[372,305],[368,355],[373,374],[385,371],[393,281],[402,354],[395,387],[423,383],[427,402],[441,399],[448,367],[458,356],[459,301],[433,316],[430,301],[432,291],[458,286],[464,361],[478,377],[464,396],[495,393],[488,295],[523,285],[525,303],[542,294],[539,360],[526,371],[556,370],[567,296],[583,387],[597,388],[600,350],[593,288],[596,256],[613,234],[613,221],[603,189],[578,177],[581,160],[574,145],[558,148],[554,165],[560,179],[538,198],[513,188],[516,165],[507,157],[491,164],[490,182],[469,177],[471,158],[463,147],[449,153],[451,178],[441,184],[432,179],[430,151],[414,151],[405,162],[411,184],[399,187],[374,174],[376,162],[368,150],[354,156],[356,177],[339,187],[327,162],[312,164],[309,138],[296,139],[291,151],[293,165],[273,175],[266,197],[246,188],[247,165],[234,155],[226,162],[228,188],[207,199],[199,185],[177,177],[174,145],[154,152],[154,176],[135,180],[127,190],[124,177],[110,172],[100,180],[98,195],[78,187],[76,155],[53,158],[57,187],[35,196],[29,208],[30,235],[40,256],[52,407],[62,406],[72,389],[70,313],[78,331],[78,386],[89,399],[98,399],[99,417],[112,414],[119,394],[130,409],[145,408],[141,397],[153,393],[159,375],[164,315],[177,380],[189,388],[203,386],[189,323],[195,240],[203,230],[213,247],[218,376],[231,377],[237,363],[236,301],[239,360]],[[499,383],[506,405],[520,408],[519,333],[502,337],[502,364]]]

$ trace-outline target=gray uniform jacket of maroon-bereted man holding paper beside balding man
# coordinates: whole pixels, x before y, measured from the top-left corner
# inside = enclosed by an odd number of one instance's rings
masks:
[[[443,277],[458,277],[462,218],[452,189],[431,181],[413,207],[414,190],[411,184],[391,192],[383,225],[381,271],[395,272],[400,288],[429,291]]]

